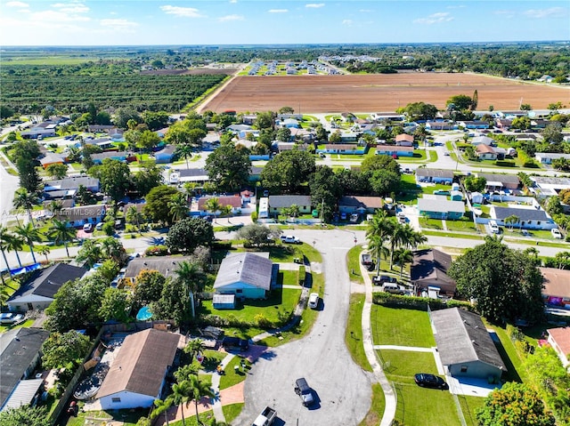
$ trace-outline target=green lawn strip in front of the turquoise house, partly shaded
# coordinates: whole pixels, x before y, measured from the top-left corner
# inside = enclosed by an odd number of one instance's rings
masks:
[[[279,321],[279,314],[291,312],[301,295],[301,287],[298,290],[283,288],[270,293],[266,300],[248,300],[239,304],[236,309],[214,309],[212,301],[202,301],[200,313],[202,315],[216,315],[217,317],[235,317],[241,321],[254,323],[255,317],[262,314],[272,322]]]

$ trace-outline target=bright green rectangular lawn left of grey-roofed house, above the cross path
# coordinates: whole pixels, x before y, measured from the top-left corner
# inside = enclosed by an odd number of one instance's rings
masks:
[[[372,342],[382,345],[436,346],[428,312],[372,305]]]

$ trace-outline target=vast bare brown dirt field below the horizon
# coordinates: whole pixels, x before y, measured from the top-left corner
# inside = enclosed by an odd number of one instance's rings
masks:
[[[277,111],[338,113],[395,111],[424,101],[444,109],[456,94],[478,93],[478,109],[533,109],[552,102],[570,103],[570,88],[523,83],[505,78],[451,73],[403,73],[351,76],[237,76],[200,106],[200,111]]]

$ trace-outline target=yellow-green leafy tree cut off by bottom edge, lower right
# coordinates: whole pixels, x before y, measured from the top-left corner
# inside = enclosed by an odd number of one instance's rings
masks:
[[[476,411],[482,426],[554,426],[556,421],[539,395],[523,383],[507,382],[485,398]]]

